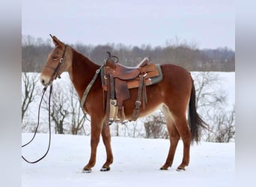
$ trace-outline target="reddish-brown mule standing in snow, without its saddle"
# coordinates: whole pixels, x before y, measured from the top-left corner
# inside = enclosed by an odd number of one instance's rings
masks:
[[[61,73],[68,72],[81,100],[85,88],[100,66],[72,47],[65,45],[57,37],[52,37],[52,40],[55,49],[49,53],[46,66],[40,75],[40,82],[44,86],[51,85]],[[141,108],[139,117],[145,117],[156,109],[162,108],[166,119],[170,147],[165,164],[162,165],[161,169],[167,170],[168,167],[171,167],[177,143],[181,138],[183,141],[183,159],[177,170],[185,170],[186,166],[189,165],[190,144],[200,140],[201,129],[205,128],[207,124],[201,120],[196,111],[195,87],[190,73],[183,67],[173,64],[163,64],[161,68],[162,82],[147,86],[147,107]],[[127,120],[132,116],[138,88],[130,89],[129,92],[130,99],[124,101],[124,112]],[[103,103],[106,103],[106,101],[103,102],[103,98],[106,99],[106,96],[103,97],[103,94],[100,76],[98,76],[84,105],[84,111],[91,116],[91,157],[88,164],[83,168],[84,172],[91,172],[91,168],[95,165],[100,134],[106,147],[106,162],[100,171],[109,171],[113,162],[109,124],[105,122],[106,111],[103,109]],[[189,125],[186,120],[188,105]]]

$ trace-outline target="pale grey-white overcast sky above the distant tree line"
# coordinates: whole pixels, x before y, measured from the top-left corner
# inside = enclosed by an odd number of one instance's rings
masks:
[[[22,34],[65,43],[235,49],[234,0],[23,0]]]

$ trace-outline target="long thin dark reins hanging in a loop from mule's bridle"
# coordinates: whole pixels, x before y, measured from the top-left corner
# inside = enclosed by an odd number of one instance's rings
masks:
[[[39,108],[38,108],[38,117],[37,117],[37,128],[35,129],[35,132],[34,132],[34,136],[33,138],[31,138],[30,141],[28,141],[27,144],[24,144],[22,145],[22,147],[25,147],[27,146],[28,144],[30,144],[33,140],[34,140],[34,137],[35,135],[37,134],[37,129],[38,129],[38,126],[39,126],[39,119],[40,119],[40,107],[41,107],[41,104],[42,104],[42,101],[43,101],[43,96],[44,96],[44,93],[46,92],[47,90],[47,87],[43,88],[43,95],[42,95],[42,98],[40,100],[40,104],[39,104]],[[44,157],[46,157],[47,153],[49,152],[49,147],[51,145],[51,120],[50,120],[50,105],[51,105],[51,96],[52,96],[52,85],[50,86],[50,90],[49,90],[49,103],[48,103],[48,120],[49,120],[49,144],[48,144],[48,148],[46,150],[46,153],[44,153],[44,155],[40,158],[40,159],[37,159],[36,161],[34,162],[31,162],[31,161],[28,161],[27,159],[25,159],[24,156],[22,156],[22,159],[25,160],[25,162],[28,162],[30,164],[34,164],[34,163],[37,163],[39,162],[41,159],[43,159]]]

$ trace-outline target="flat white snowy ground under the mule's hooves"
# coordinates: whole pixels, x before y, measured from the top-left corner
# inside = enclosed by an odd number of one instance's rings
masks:
[[[32,137],[22,133],[22,144]],[[37,134],[34,142],[22,148],[22,155],[34,161],[43,156],[48,135]],[[82,173],[91,150],[90,137],[52,135],[49,154],[37,164],[22,161],[22,186],[234,186],[235,144],[201,142],[193,145],[186,171],[176,171],[182,160],[180,141],[173,167],[160,171],[168,153],[165,139],[112,138],[114,163],[111,171],[100,168],[106,159],[103,142],[97,149],[97,162],[90,174]]]

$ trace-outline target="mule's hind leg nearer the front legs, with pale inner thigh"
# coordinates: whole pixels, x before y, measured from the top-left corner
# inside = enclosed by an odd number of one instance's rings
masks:
[[[169,152],[168,152],[168,156],[165,161],[165,164],[162,165],[160,169],[167,170],[168,167],[171,167],[172,162],[174,160],[174,154],[177,148],[177,143],[180,139],[180,134],[176,129],[176,126],[174,124],[174,120],[171,117],[170,111],[165,105],[162,107],[162,112],[165,115],[166,125],[167,125],[169,139],[170,139],[170,148],[169,148]]]

